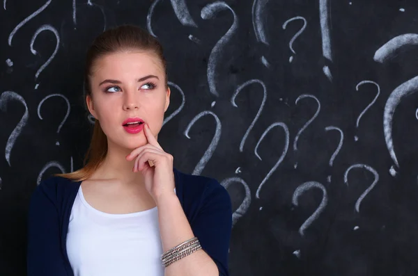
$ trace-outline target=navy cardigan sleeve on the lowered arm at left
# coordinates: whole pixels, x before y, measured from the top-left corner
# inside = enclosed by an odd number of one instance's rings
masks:
[[[31,195],[28,216],[26,269],[28,276],[70,276],[60,246],[56,200],[41,182]]]

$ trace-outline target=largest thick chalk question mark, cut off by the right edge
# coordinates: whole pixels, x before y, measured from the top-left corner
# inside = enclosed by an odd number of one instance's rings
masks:
[[[396,54],[396,51],[401,49],[404,46],[416,45],[418,44],[418,35],[415,33],[408,33],[403,35],[398,35],[392,40],[386,42],[382,47],[380,47],[373,59],[379,63],[385,62],[390,57]],[[387,102],[385,104],[385,111],[383,112],[383,131],[385,133],[385,142],[389,154],[394,161],[397,168],[399,168],[398,159],[396,159],[396,154],[394,151],[394,143],[392,138],[392,122],[396,107],[401,103],[402,99],[412,95],[418,90],[418,76],[405,81],[400,86],[395,88],[392,93],[389,95]],[[389,169],[389,173],[394,177],[397,172],[394,166]]]

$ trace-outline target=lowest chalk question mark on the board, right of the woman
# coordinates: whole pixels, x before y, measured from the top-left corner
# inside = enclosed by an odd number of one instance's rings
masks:
[[[324,211],[325,206],[327,206],[328,203],[327,190],[325,189],[323,184],[320,184],[316,181],[307,181],[304,184],[297,187],[295,193],[293,193],[292,203],[295,206],[297,206],[299,204],[298,199],[300,195],[305,193],[307,190],[311,190],[311,188],[319,188],[320,190],[322,190],[323,198],[315,212],[307,220],[305,220],[305,222],[303,222],[302,226],[299,228],[299,234],[301,236],[304,236],[305,230],[318,218],[320,213]]]

